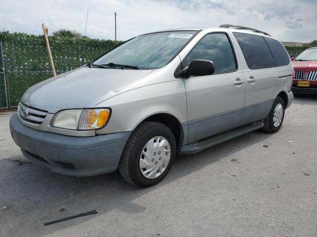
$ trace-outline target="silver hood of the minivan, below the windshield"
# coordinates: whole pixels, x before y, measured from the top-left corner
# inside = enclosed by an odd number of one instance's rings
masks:
[[[153,70],[78,68],[30,87],[21,102],[37,109],[56,113],[63,109],[84,108],[90,101],[120,93],[124,84]],[[109,95],[110,96],[110,95]]]

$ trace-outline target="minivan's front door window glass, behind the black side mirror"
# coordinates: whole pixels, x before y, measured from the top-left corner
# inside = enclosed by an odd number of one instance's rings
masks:
[[[187,63],[195,59],[211,60],[214,73],[232,72],[236,69],[236,61],[228,37],[224,33],[205,36],[187,56]]]

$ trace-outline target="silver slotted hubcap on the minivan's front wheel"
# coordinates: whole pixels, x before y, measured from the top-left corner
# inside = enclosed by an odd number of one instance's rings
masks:
[[[140,170],[144,177],[154,179],[161,175],[170,159],[170,145],[164,137],[150,139],[142,149]]]

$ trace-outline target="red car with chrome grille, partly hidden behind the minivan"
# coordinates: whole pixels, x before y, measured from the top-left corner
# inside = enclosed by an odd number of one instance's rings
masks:
[[[317,47],[308,48],[296,58],[294,67],[293,92],[317,93]]]

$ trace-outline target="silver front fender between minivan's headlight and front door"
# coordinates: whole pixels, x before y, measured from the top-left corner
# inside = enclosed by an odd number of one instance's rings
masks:
[[[98,107],[110,107],[111,118],[96,134],[132,131],[146,118],[169,114],[180,123],[187,121],[184,81],[177,79],[136,88],[112,97]]]

